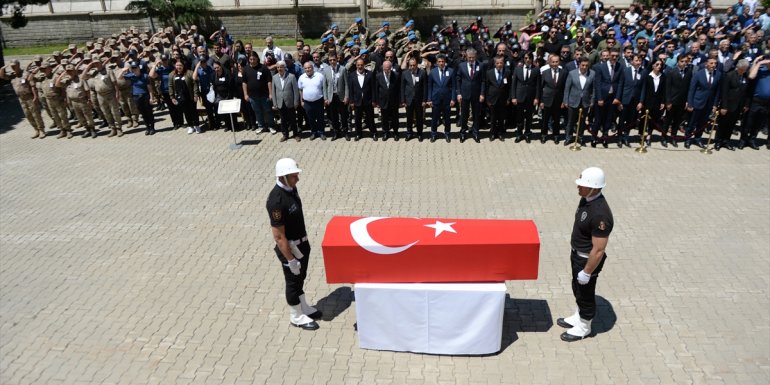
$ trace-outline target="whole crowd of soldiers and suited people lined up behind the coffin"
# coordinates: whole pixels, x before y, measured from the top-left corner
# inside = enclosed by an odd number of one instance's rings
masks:
[[[719,15],[703,0],[624,9],[556,0],[522,28],[477,17],[422,34],[413,20],[374,30],[358,18],[331,24],[318,46],[298,39],[284,50],[270,36],[264,46],[257,52],[224,26],[208,37],[196,26],[130,28],[24,68],[15,61],[0,78],[11,80],[33,138],[46,136],[41,111],[59,137],[73,136],[74,118],[95,138],[107,127],[122,136],[140,115],[153,135],[156,113],[168,109],[173,128],[189,134],[246,129],[281,141],[449,142],[456,126],[461,142],[605,148],[703,147],[708,132],[715,149],[732,150],[758,149],[770,116],[770,8],[756,0]],[[242,101],[235,119],[217,113],[230,99]]]

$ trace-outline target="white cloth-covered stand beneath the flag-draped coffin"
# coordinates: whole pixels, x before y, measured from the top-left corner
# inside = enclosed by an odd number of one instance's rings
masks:
[[[500,351],[505,283],[359,283],[362,349],[478,355]]]

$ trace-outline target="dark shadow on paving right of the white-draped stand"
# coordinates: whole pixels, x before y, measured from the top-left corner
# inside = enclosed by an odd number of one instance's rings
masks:
[[[503,341],[500,354],[519,339],[517,332],[544,333],[553,326],[548,302],[543,299],[516,299],[505,295],[503,313]]]

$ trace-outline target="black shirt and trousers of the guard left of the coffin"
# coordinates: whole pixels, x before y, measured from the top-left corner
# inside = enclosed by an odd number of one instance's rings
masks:
[[[283,266],[283,276],[286,280],[286,302],[290,306],[299,305],[299,296],[305,294],[303,286],[307,277],[307,266],[310,262],[310,243],[307,241],[305,216],[302,214],[302,201],[294,188],[291,191],[275,185],[267,197],[267,213],[270,216],[270,226],[284,226],[286,239],[289,243],[297,243],[297,248],[304,255],[299,260],[301,264],[299,275],[294,275],[289,269],[288,261],[275,246],[275,254]]]

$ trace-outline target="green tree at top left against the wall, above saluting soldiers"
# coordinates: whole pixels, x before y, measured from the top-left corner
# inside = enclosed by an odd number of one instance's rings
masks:
[[[209,0],[132,0],[127,11],[157,19],[163,25],[179,29],[180,25],[201,24],[211,10]]]

